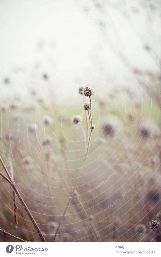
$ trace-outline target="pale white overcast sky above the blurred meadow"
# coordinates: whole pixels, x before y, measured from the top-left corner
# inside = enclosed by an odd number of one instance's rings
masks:
[[[125,80],[136,87],[134,68],[159,74],[160,2],[98,2],[104,12],[92,0],[1,0],[2,84],[11,80],[2,95],[28,88],[66,95],[81,83],[104,93]]]

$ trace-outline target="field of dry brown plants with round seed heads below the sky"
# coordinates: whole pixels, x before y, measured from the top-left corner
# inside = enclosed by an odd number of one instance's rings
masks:
[[[76,85],[69,105],[36,91],[1,103],[2,242],[161,242],[160,95],[148,93]]]

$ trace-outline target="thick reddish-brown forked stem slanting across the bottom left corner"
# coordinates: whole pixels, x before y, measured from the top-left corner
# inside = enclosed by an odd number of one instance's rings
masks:
[[[9,174],[9,173],[8,173],[8,170],[7,170],[6,166],[5,166],[5,164],[4,164],[3,161],[2,161],[1,156],[0,156],[0,161],[1,161],[1,163],[2,163],[2,166],[3,166],[4,169],[5,169],[6,173]],[[0,175],[3,176],[3,174],[2,174],[1,172],[0,172]],[[10,175],[9,175],[9,176],[10,176]],[[5,177],[5,176],[3,176],[3,177],[4,177],[5,179],[7,178],[7,177]],[[7,178],[7,181],[10,183],[10,185],[11,185],[12,188],[14,189],[16,195],[18,196],[18,199],[20,200],[22,206],[24,207],[24,209],[25,209],[25,211],[27,212],[29,218],[31,219],[31,221],[32,221],[32,223],[33,223],[33,225],[34,225],[34,227],[36,228],[36,230],[37,230],[37,232],[38,232],[38,234],[39,234],[41,240],[42,240],[43,242],[46,242],[46,240],[45,240],[45,238],[44,238],[44,236],[43,236],[43,234],[42,234],[42,232],[41,232],[39,226],[37,225],[37,223],[36,223],[34,217],[32,216],[32,214],[31,214],[30,210],[28,209],[26,203],[24,202],[24,199],[22,198],[21,194],[19,193],[19,191],[18,191],[18,189],[17,189],[15,183],[12,182],[11,179],[9,180],[8,178]]]

